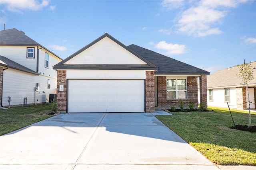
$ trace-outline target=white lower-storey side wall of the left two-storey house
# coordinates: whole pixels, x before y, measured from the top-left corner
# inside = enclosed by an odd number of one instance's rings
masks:
[[[51,80],[50,89],[47,88],[48,79]],[[35,100],[34,90],[36,83],[40,83],[40,91],[36,92]],[[49,94],[56,94],[56,87],[56,78],[33,75],[8,68],[4,70],[2,105],[9,105],[8,96],[10,96],[12,100],[10,105],[23,104],[24,98],[27,98],[27,104],[34,104],[35,101],[37,103],[45,103],[49,100]]]

